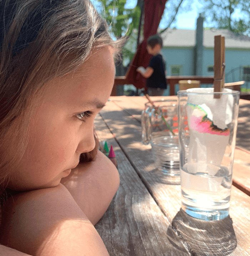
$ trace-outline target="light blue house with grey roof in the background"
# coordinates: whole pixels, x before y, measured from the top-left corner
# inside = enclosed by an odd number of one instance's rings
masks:
[[[214,75],[214,36],[221,35],[225,37],[225,82],[245,80],[241,90],[250,91],[250,37],[227,29],[203,29],[200,18],[197,30],[167,29],[161,34],[167,75]]]

